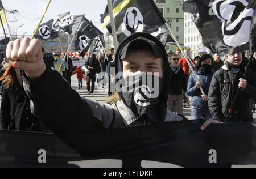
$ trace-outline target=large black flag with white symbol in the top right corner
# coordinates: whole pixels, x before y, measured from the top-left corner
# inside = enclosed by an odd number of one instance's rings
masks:
[[[188,0],[184,12],[192,13],[203,44],[212,52],[228,54],[249,49],[254,0]]]

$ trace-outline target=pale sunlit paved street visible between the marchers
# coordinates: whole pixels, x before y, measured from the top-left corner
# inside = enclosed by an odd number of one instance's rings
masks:
[[[71,82],[71,87],[73,89],[75,89],[79,95],[86,97],[87,99],[91,99],[91,100],[96,100],[98,101],[98,103],[100,104],[104,104],[107,97],[108,97],[108,89],[107,88],[101,88],[98,87],[96,84],[95,90],[94,90],[94,95],[88,95],[88,91],[86,90],[86,82],[84,82],[84,85],[82,87],[81,90],[78,90],[78,83],[77,83],[77,78],[76,75],[72,76],[72,82]],[[0,97],[0,101],[1,101],[1,97]],[[184,116],[187,117],[188,119],[190,119],[191,117],[191,113],[190,113],[191,109],[190,108],[184,108]],[[253,114],[254,117],[254,122],[256,122],[256,112],[254,112]]]

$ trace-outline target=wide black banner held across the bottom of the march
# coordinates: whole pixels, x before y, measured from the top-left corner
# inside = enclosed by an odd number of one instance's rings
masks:
[[[255,167],[256,124],[204,120],[89,134],[0,131],[0,167]]]

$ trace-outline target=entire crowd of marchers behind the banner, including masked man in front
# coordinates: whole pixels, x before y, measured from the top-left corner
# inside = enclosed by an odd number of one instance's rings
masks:
[[[38,46],[40,44],[35,42],[31,48],[37,50]],[[248,59],[242,52],[226,54],[224,60],[218,54],[214,54],[214,57],[203,54],[192,59],[186,49],[186,59],[181,57],[181,50],[166,53],[160,41],[144,33],[135,33],[123,41],[116,52],[119,58],[115,59],[114,48],[109,49],[108,55],[89,52],[84,66],[73,66],[72,62],[76,59],[60,52],[44,53],[43,48],[34,52],[36,61],[22,61],[23,57],[15,59],[13,54],[10,56],[11,48],[14,45],[9,45],[6,51],[10,61],[5,58],[2,62],[0,129],[80,133],[152,122],[181,121],[185,119],[184,107],[191,106],[191,120],[207,120],[201,128],[203,130],[209,123],[225,121],[238,88],[242,90],[228,122],[253,122],[256,54],[243,79]],[[39,59],[40,56],[43,61]],[[122,72],[125,79],[143,72],[159,72],[158,78],[162,84],[159,85],[160,95],[151,99],[153,102],[148,106],[141,106],[133,100],[131,93],[113,93],[110,89],[110,84],[115,83],[115,77],[110,73],[112,67],[115,74]],[[84,79],[88,95],[93,95],[96,80],[99,83],[104,78],[96,78],[96,74],[101,72],[109,74],[108,95],[112,95],[109,104],[99,105],[72,90],[71,76],[76,74],[79,89],[83,87]],[[101,85],[104,87],[105,84]],[[66,115],[66,111],[70,114]],[[76,122],[71,122],[74,116]],[[88,120],[81,121],[85,116]],[[60,123],[64,127],[59,127]]]

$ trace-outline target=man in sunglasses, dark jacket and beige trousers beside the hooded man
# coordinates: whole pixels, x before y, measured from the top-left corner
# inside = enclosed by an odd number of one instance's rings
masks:
[[[168,109],[175,114],[183,115],[183,94],[187,91],[184,71],[179,66],[179,57],[174,54],[171,60],[171,86],[168,97]]]

